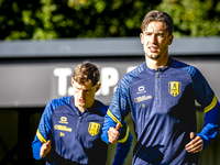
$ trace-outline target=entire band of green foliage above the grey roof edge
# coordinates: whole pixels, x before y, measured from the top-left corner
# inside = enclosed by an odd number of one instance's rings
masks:
[[[0,40],[139,36],[153,9],[173,16],[175,36],[220,35],[218,0],[0,0]]]

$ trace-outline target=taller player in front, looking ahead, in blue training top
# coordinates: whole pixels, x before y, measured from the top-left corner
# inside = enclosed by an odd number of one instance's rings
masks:
[[[138,138],[133,165],[198,164],[198,152],[209,146],[219,130],[217,96],[196,67],[168,56],[174,38],[170,15],[151,11],[141,29],[145,62],[121,78],[101,138],[114,143],[116,124],[131,111]],[[195,100],[205,112],[200,133],[196,133]]]

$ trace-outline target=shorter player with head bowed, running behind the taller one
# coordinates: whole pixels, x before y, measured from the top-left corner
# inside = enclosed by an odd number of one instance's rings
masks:
[[[101,86],[99,78],[91,63],[76,67],[74,96],[51,100],[45,107],[32,142],[34,158],[45,158],[47,165],[106,164],[108,145],[100,135],[108,106],[95,99]],[[133,136],[124,122],[122,128],[114,165],[123,164],[132,144]]]

